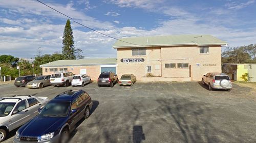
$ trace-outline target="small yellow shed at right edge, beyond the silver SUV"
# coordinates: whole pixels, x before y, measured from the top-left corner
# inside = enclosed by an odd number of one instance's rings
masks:
[[[249,81],[256,82],[256,64],[223,64],[223,72],[236,81],[244,81],[242,76],[248,73]]]

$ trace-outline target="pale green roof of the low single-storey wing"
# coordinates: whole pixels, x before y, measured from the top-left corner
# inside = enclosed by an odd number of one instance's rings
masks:
[[[58,61],[50,62],[44,65],[40,65],[40,67],[93,66],[93,65],[113,65],[113,64],[117,64],[116,58],[58,60]]]

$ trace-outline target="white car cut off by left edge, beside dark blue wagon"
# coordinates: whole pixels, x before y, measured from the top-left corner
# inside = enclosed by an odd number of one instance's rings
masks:
[[[37,115],[37,109],[49,101],[48,97],[18,95],[2,97],[0,101],[0,142],[7,134]]]

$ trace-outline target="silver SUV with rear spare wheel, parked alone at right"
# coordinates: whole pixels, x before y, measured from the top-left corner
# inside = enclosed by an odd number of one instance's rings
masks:
[[[225,73],[207,73],[202,78],[202,84],[207,84],[210,91],[212,89],[221,89],[228,91],[232,89],[232,83],[230,81],[230,78]]]

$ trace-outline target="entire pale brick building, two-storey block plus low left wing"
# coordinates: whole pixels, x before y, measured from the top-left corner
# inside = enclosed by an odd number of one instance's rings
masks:
[[[198,81],[207,72],[221,72],[221,47],[226,44],[210,35],[121,38],[113,45],[117,58],[60,60],[40,67],[44,75],[68,70],[88,74],[92,80],[112,71],[119,78],[132,73],[142,81]],[[146,78],[148,73],[154,77]]]

